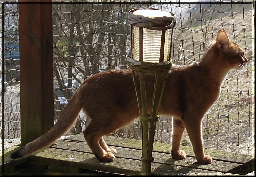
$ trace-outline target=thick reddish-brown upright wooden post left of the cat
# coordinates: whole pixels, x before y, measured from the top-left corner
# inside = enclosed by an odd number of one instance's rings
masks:
[[[21,145],[54,125],[52,1],[33,2],[50,3],[19,4]]]

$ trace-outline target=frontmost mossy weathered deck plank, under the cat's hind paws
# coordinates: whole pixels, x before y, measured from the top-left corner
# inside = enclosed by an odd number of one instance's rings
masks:
[[[46,150],[30,156],[29,160],[39,161],[47,164],[76,167],[81,169],[91,169],[109,173],[119,173],[126,175],[140,175],[141,161],[125,158],[115,158],[113,162],[100,162],[93,154],[76,152],[72,150],[61,150],[47,148]],[[175,165],[152,163],[153,175],[235,175],[230,173],[213,172],[195,168],[187,168]]]

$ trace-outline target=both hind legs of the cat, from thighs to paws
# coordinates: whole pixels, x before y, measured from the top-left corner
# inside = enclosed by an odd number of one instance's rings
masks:
[[[104,104],[106,103],[104,102]],[[84,109],[84,111],[90,121],[83,132],[86,142],[94,155],[101,161],[112,161],[116,155],[116,149],[109,148],[102,137],[127,125],[136,117],[134,113],[129,114],[120,105],[110,103],[112,105],[107,107],[104,104],[93,105],[93,109],[88,108],[90,105],[84,106],[84,108],[89,109]],[[95,107],[97,108],[96,110],[94,110]]]

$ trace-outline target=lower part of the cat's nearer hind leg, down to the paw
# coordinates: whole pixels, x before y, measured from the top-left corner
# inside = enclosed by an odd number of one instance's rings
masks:
[[[101,146],[99,140],[102,138],[102,133],[95,129],[92,122],[88,124],[86,129],[83,131],[84,138],[89,145],[90,149],[92,150],[93,154],[100,160],[100,161],[113,161],[115,155],[112,152],[106,152]]]

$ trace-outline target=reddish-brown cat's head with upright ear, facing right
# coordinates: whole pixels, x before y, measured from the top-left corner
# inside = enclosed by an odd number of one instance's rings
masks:
[[[222,56],[223,62],[231,69],[240,69],[246,66],[248,59],[244,55],[242,47],[229,40],[228,34],[224,30],[219,30],[216,34],[216,46]]]

